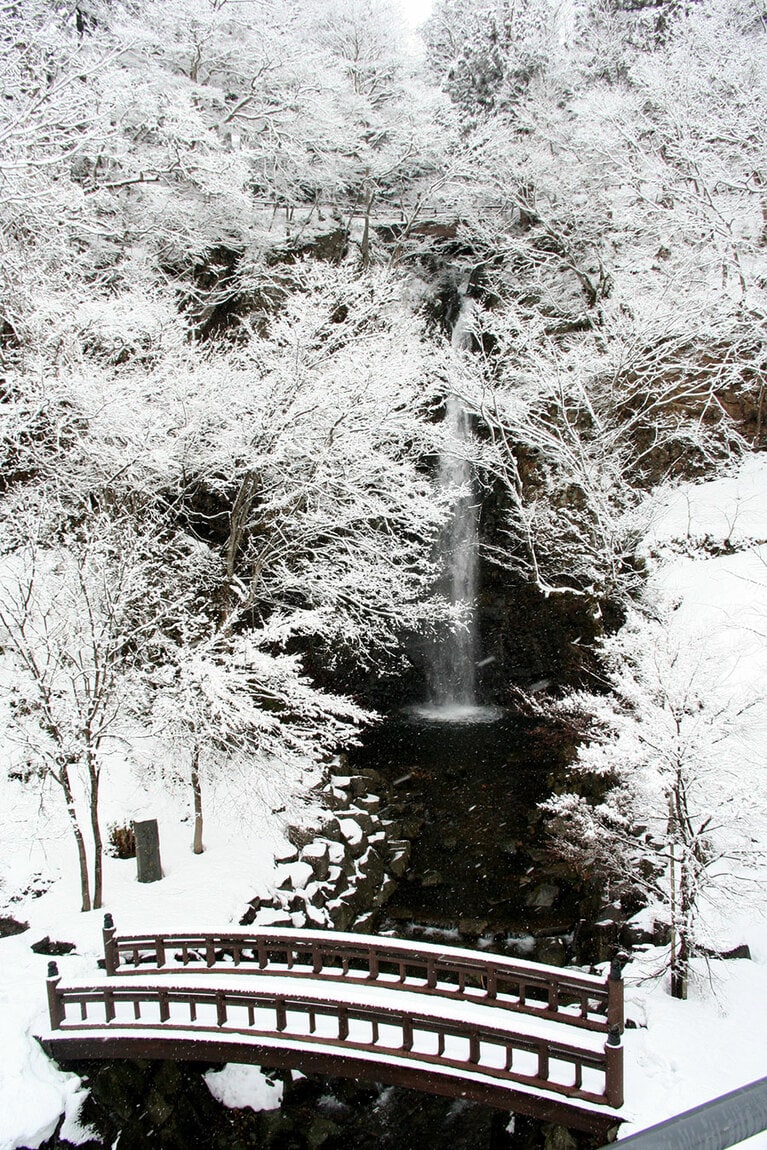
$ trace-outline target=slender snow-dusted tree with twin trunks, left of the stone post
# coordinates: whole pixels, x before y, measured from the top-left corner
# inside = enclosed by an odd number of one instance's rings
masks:
[[[102,900],[105,754],[161,610],[152,593],[159,565],[130,522],[98,516],[64,535],[52,526],[28,521],[26,540],[2,558],[0,637],[11,672],[3,690],[22,775],[60,789],[87,911]]]

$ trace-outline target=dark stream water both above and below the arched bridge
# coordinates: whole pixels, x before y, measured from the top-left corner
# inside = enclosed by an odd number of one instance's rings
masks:
[[[400,712],[369,730],[351,757],[375,767],[420,812],[411,864],[378,934],[492,949],[547,963],[573,958],[575,888],[540,842],[536,805],[550,793],[558,752],[540,724],[473,707],[440,721]],[[443,713],[444,714],[444,713]],[[560,1130],[474,1103],[342,1079],[287,1084],[282,1121],[325,1150],[538,1150],[585,1147]],[[293,1127],[294,1128],[294,1127]],[[563,1137],[565,1141],[557,1141]],[[281,1144],[281,1143],[278,1143]],[[301,1143],[285,1142],[285,1145]]]

